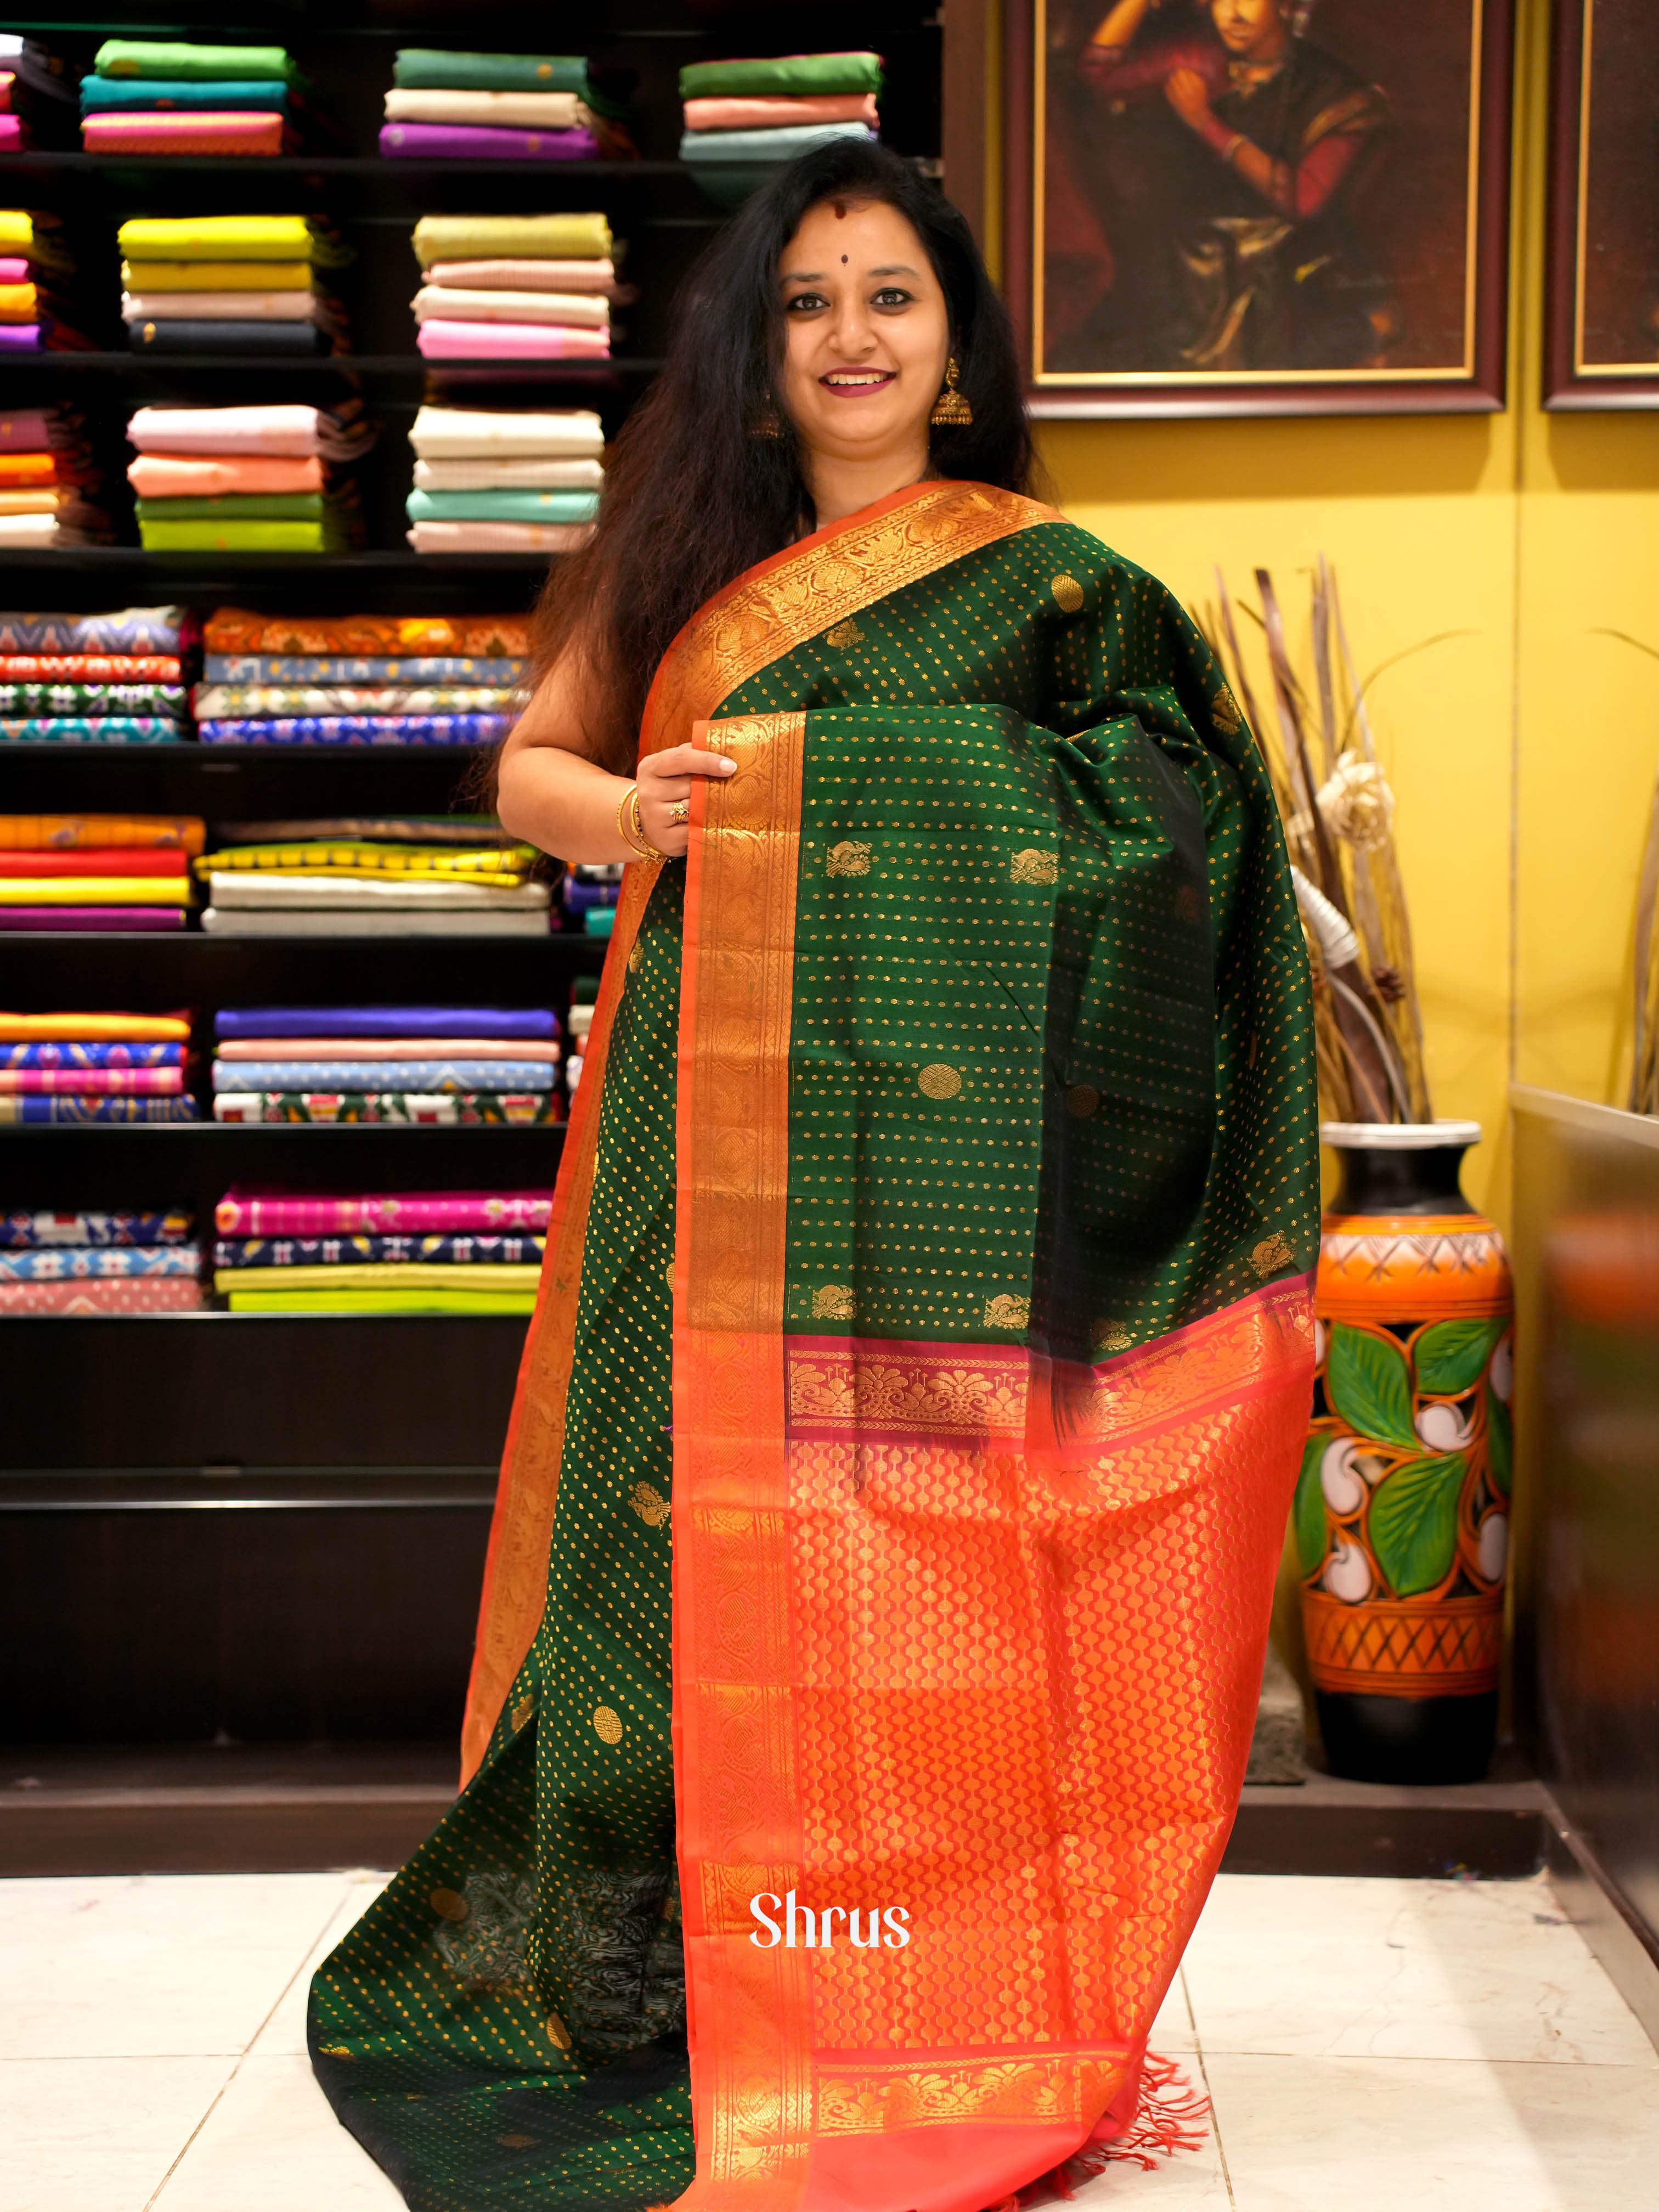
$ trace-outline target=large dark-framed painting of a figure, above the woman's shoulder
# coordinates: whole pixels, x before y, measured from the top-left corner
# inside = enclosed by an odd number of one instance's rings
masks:
[[[1500,409],[1513,31],[1513,0],[1006,0],[1033,411]]]

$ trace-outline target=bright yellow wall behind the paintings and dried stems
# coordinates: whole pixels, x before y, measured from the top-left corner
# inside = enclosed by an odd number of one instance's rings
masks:
[[[1613,1099],[1635,876],[1659,759],[1659,416],[1546,416],[1540,389],[1546,4],[1522,0],[1502,416],[1048,422],[1060,502],[1183,599],[1272,568],[1305,648],[1336,566],[1398,796],[1440,1115],[1473,1115],[1475,1206],[1506,1219],[1511,1071]],[[1305,650],[1298,653],[1305,664]],[[1621,1079],[1621,1075],[1617,1077]]]

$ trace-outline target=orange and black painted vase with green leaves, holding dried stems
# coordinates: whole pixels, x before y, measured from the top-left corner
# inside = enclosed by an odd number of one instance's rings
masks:
[[[1509,1254],[1458,1183],[1480,1124],[1321,1135],[1343,1186],[1321,1234],[1294,1526],[1325,1759],[1352,1781],[1480,1781],[1513,1462]]]

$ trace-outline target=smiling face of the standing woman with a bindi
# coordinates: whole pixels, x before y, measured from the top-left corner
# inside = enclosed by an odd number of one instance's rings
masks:
[[[812,208],[783,250],[779,299],[779,398],[805,445],[836,460],[925,447],[951,325],[927,248],[898,208]]]

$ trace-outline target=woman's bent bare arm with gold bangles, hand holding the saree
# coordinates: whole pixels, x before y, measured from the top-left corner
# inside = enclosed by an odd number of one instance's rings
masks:
[[[582,659],[566,650],[535,686],[502,745],[495,812],[509,836],[551,852],[557,860],[637,860],[639,852],[617,827],[617,810],[639,783],[639,825],[657,852],[679,858],[690,843],[670,810],[690,794],[692,776],[730,776],[734,763],[719,752],[670,745],[639,763],[635,776],[613,776],[582,712]]]

